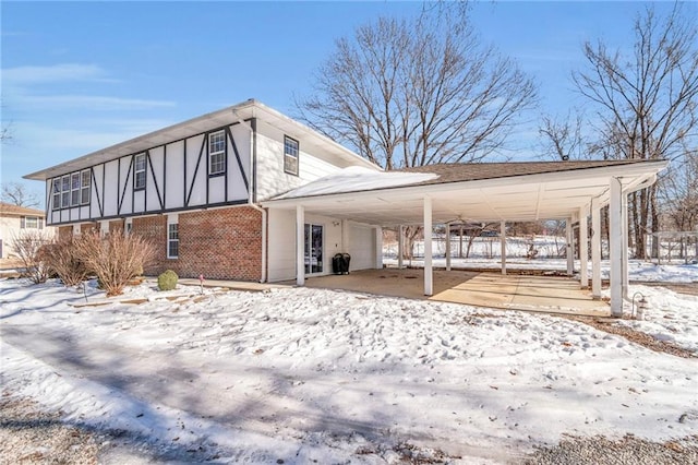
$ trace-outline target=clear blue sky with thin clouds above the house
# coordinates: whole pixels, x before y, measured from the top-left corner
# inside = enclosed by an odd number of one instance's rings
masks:
[[[657,4],[660,12],[669,2]],[[697,3],[686,11],[696,16]],[[334,40],[418,2],[2,1],[2,182],[254,97],[293,114],[293,96]],[[491,2],[472,17],[540,85],[541,108],[512,139],[530,158],[540,112],[580,106],[569,79],[585,40],[629,49],[639,2]],[[43,191],[36,181],[25,181]]]

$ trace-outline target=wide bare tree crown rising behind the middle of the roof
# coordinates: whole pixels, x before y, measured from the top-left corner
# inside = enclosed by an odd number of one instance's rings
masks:
[[[537,98],[517,64],[481,44],[467,9],[381,17],[340,38],[299,118],[385,169],[481,160]]]

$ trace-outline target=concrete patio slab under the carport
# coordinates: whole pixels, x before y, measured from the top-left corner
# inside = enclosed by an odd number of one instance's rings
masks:
[[[345,289],[381,296],[428,299],[505,310],[609,317],[611,308],[593,300],[571,278],[434,270],[434,294],[424,296],[422,269],[363,270],[349,275],[306,277],[306,287]]]

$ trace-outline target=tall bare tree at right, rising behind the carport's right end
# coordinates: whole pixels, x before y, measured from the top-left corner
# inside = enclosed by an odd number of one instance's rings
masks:
[[[694,19],[695,20],[695,19]],[[599,41],[585,44],[588,70],[574,73],[579,92],[598,108],[601,148],[607,158],[676,160],[698,127],[698,38],[676,3],[665,17],[653,7],[634,24],[630,56]],[[645,235],[659,229],[658,186],[630,195],[630,243],[646,258]],[[633,240],[634,239],[634,240]]]

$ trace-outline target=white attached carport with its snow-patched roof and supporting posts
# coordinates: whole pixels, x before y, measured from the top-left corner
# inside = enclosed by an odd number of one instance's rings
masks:
[[[434,294],[432,230],[452,222],[501,224],[504,249],[507,222],[563,219],[567,230],[567,273],[573,274],[573,225],[580,234],[580,285],[601,296],[600,211],[610,211],[611,312],[623,313],[627,298],[627,196],[651,186],[665,160],[530,162],[442,164],[398,171],[347,168],[294,189],[263,205],[296,211],[297,284],[304,284],[303,225],[306,213],[378,227],[424,227],[423,294]],[[588,222],[591,218],[591,250]],[[448,231],[449,228],[446,228]],[[401,234],[398,237],[401,238]],[[446,245],[449,245],[446,238]],[[376,240],[376,255],[381,253]],[[446,270],[450,255],[446,250]],[[506,275],[505,253],[502,274]],[[377,261],[378,262],[378,261]],[[401,263],[399,263],[401,265]]]

